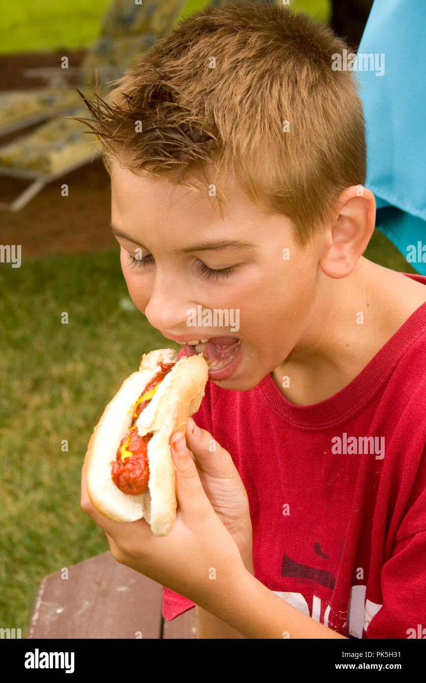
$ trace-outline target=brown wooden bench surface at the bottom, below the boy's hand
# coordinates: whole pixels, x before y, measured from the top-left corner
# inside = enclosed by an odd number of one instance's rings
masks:
[[[108,550],[42,580],[27,639],[196,639],[196,609],[168,622],[161,601],[159,583]]]

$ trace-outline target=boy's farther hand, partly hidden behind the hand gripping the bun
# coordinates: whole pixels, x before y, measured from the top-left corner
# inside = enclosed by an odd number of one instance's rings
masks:
[[[253,541],[248,497],[230,454],[191,417],[185,436],[213,510],[235,540],[245,565],[251,565]]]

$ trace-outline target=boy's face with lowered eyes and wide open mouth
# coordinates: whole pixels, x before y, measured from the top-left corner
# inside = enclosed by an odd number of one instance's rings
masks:
[[[309,327],[319,242],[297,247],[290,219],[269,214],[243,193],[230,204],[222,219],[200,192],[117,166],[111,171],[111,223],[127,235],[114,233],[133,302],[169,339],[211,339],[204,346],[207,362],[223,367],[209,367],[209,378],[245,391],[275,370]],[[200,249],[221,240],[251,246]],[[214,272],[223,269],[228,272]],[[187,354],[198,350],[185,347]]]

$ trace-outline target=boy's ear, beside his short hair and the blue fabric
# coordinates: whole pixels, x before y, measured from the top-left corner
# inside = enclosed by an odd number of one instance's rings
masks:
[[[348,187],[336,201],[327,231],[321,270],[328,277],[347,277],[367,249],[375,227],[375,198],[362,185]]]

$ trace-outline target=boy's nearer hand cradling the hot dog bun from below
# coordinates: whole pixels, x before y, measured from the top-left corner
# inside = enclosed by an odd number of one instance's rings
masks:
[[[178,441],[181,447],[176,444]],[[183,434],[175,432],[170,442],[178,503],[170,533],[155,536],[144,518],[114,522],[101,515],[88,496],[84,464],[81,508],[105,531],[118,562],[214,613],[221,604],[229,602],[232,590],[245,581],[248,568],[204,491]],[[211,576],[213,570],[215,575]],[[212,578],[216,580],[211,581]]]

